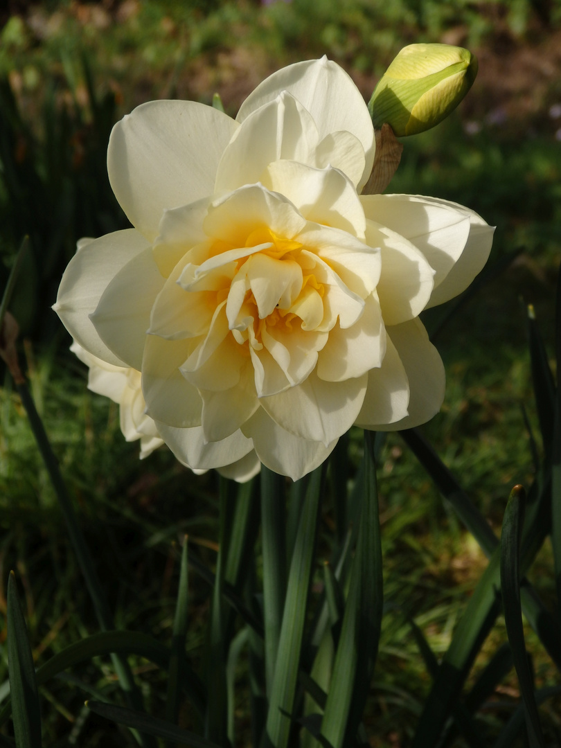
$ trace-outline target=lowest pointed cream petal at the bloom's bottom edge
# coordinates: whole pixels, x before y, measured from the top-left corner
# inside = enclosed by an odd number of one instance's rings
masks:
[[[243,432],[253,439],[257,457],[263,465],[292,480],[298,480],[322,465],[337,444],[337,439],[325,446],[290,434],[263,408],[244,424]]]

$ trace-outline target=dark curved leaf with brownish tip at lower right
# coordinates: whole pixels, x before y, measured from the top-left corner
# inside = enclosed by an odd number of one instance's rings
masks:
[[[525,500],[524,488],[521,485],[515,485],[506,505],[503,519],[503,534],[500,539],[500,584],[503,592],[506,634],[509,637],[512,659],[524,700],[530,748],[543,748],[544,739],[534,698],[533,677],[524,644],[520,601],[520,545]]]

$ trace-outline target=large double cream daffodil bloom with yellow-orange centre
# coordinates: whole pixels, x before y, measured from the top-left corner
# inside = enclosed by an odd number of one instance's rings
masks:
[[[55,309],[93,355],[141,372],[184,462],[196,427],[216,467],[255,449],[297,479],[353,423],[440,408],[417,317],[468,286],[492,230],[444,200],[361,195],[373,158],[367,106],[325,58],[275,73],[236,120],[159,101],[115,126],[108,172],[135,228],[79,250]]]

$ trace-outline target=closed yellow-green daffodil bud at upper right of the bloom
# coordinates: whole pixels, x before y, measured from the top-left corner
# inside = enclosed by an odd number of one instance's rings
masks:
[[[468,49],[449,44],[404,47],[370,99],[375,128],[388,123],[401,136],[438,125],[459,105],[476,75],[477,59]]]

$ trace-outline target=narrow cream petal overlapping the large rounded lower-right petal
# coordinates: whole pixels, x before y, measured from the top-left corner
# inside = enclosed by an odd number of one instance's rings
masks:
[[[408,414],[409,381],[396,347],[386,336],[386,355],[379,369],[368,373],[367,393],[355,421],[363,429],[387,429]]]

